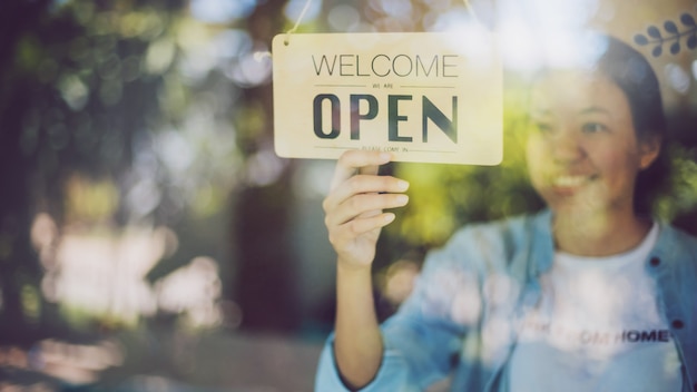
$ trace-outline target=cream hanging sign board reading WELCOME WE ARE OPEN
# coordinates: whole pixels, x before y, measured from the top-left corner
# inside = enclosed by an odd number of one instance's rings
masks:
[[[367,149],[400,161],[497,165],[502,79],[488,31],[278,35],[276,154],[334,159]]]

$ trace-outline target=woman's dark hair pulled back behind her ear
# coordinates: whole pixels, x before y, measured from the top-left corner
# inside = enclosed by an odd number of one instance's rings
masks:
[[[605,36],[605,50],[596,61],[597,71],[613,81],[627,97],[639,141],[661,141],[656,160],[639,171],[634,192],[635,213],[648,215],[654,202],[667,189],[670,160],[666,154],[666,115],[660,97],[660,86],[647,59],[629,45]]]

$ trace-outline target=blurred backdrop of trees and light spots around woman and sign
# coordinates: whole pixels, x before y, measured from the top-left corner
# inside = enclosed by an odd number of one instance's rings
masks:
[[[501,37],[502,165],[385,170],[412,187],[381,238],[381,317],[455,227],[541,207],[521,86],[540,58],[573,53],[559,31],[608,31],[650,58],[674,139],[656,214],[697,233],[694,2],[306,4],[0,3],[0,391],[312,390],[334,316],[321,209],[334,165],[274,154],[268,52],[303,10],[297,33],[484,23]]]

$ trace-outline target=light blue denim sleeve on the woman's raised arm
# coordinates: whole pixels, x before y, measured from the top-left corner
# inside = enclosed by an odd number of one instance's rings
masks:
[[[361,391],[423,391],[446,378],[458,363],[469,322],[479,316],[479,284],[458,257],[457,244],[426,257],[414,291],[381,326],[384,352],[373,381]],[[477,314],[460,314],[458,298]],[[467,307],[467,306],[465,306]],[[320,359],[315,391],[350,391],[334,360],[333,335]]]

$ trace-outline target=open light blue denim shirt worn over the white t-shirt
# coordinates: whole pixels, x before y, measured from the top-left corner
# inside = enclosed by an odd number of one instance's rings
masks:
[[[452,391],[499,391],[513,321],[540,300],[553,252],[550,210],[458,231],[429,253],[413,293],[381,326],[382,363],[361,391],[423,391],[445,378]],[[645,263],[683,363],[683,392],[697,391],[697,238],[661,224]],[[348,391],[332,345],[330,336],[317,392]]]

